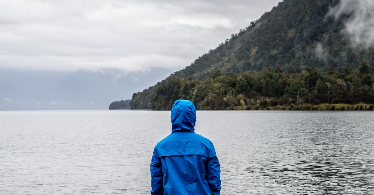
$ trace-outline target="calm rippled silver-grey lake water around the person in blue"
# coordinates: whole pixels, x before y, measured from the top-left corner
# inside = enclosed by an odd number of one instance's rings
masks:
[[[374,112],[197,111],[223,195],[374,194]],[[170,111],[1,111],[0,194],[150,194]]]

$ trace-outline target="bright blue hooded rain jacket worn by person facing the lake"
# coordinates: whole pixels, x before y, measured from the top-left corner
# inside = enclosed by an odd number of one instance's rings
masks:
[[[193,103],[175,101],[172,132],[154,147],[151,194],[220,194],[220,163],[212,142],[194,132],[195,121]]]

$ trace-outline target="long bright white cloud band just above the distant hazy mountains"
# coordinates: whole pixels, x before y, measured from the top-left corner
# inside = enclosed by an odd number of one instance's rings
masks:
[[[36,70],[74,71],[76,69],[98,70],[99,68],[119,68],[125,73],[129,71],[146,71],[150,68],[178,69],[190,64],[187,59],[158,54],[138,54],[131,56],[56,56],[40,55],[25,56],[0,53],[0,64],[12,65],[18,68]]]

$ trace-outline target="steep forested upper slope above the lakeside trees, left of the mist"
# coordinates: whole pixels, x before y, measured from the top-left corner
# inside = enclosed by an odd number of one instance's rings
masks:
[[[347,48],[349,42],[340,33],[343,23],[326,18],[329,7],[336,3],[336,0],[285,0],[173,76],[201,79],[218,68],[224,74],[240,73],[261,71],[277,64],[282,69],[290,64],[298,71],[302,66],[341,66],[346,61],[335,62],[334,59],[352,49]],[[318,58],[316,48],[319,45],[333,54],[331,59]],[[360,61],[358,55],[355,57],[347,62],[355,65]]]

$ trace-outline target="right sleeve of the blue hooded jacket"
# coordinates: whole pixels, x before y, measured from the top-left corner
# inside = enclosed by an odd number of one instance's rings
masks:
[[[221,191],[221,170],[220,163],[218,162],[218,158],[215,154],[215,149],[213,146],[209,155],[208,172],[206,173],[206,177],[212,195],[219,195]]]

